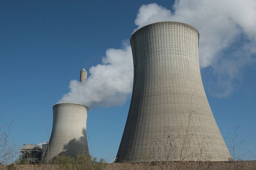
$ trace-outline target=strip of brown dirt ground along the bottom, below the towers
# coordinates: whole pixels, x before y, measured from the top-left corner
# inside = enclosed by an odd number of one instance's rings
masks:
[[[105,170],[179,170],[178,162],[169,164],[140,163],[140,164],[107,164]],[[20,165],[15,170],[55,170],[57,165]],[[8,166],[0,166],[0,170],[10,169]],[[181,170],[256,170],[256,161],[214,161],[214,162],[183,162]]]

